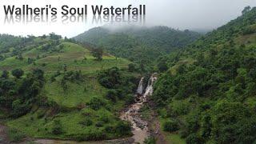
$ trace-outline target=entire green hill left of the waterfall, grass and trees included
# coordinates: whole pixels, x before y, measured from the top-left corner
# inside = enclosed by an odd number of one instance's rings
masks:
[[[86,141],[130,135],[118,118],[138,81],[127,70],[130,61],[106,53],[97,60],[89,48],[56,34],[2,34],[0,51],[0,116],[14,142],[24,134]],[[103,85],[114,78],[113,86]]]

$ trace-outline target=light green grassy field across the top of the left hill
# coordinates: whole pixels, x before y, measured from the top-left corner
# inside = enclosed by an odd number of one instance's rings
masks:
[[[82,70],[83,74],[94,73],[96,70],[104,70],[114,66],[126,68],[130,63],[123,58],[115,58],[109,54],[104,54],[102,61],[95,61],[95,58],[86,48],[70,42],[62,42],[63,48],[58,52],[48,52],[41,50],[41,46],[33,48],[22,54],[23,59],[15,57],[6,58],[0,62],[0,70],[13,70],[21,68],[26,72],[38,67],[46,73],[54,73],[57,70]],[[34,62],[29,63],[28,58],[33,58]]]

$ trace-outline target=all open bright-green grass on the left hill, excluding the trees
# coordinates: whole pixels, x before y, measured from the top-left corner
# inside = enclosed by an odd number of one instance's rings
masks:
[[[90,101],[90,98],[102,98],[106,94],[106,88],[102,87],[97,79],[97,70],[104,70],[117,66],[125,68],[130,63],[126,59],[114,58],[114,56],[105,54],[101,62],[95,61],[89,50],[82,46],[70,42],[62,42],[64,48],[61,52],[46,53],[41,50],[41,46],[26,50],[22,53],[23,60],[14,57],[6,58],[0,62],[0,70],[12,70],[14,68],[22,68],[25,73],[39,67],[46,73],[47,82],[42,90],[42,95],[46,96],[50,101],[57,102],[59,106],[71,108],[69,112],[61,112],[54,117],[40,117],[42,114],[51,113],[50,110],[35,110],[30,114],[26,114],[21,118],[8,120],[7,126],[21,130],[22,133],[34,138],[69,138],[72,134],[90,134],[92,131],[101,131],[106,126],[114,126],[120,121],[114,113],[106,110],[91,110],[90,116],[83,115],[84,110],[77,110],[80,104]],[[27,58],[41,58],[35,60],[35,64],[28,64]],[[43,56],[45,55],[45,56]],[[43,58],[44,57],[44,58]],[[86,58],[86,61],[82,61]],[[75,61],[76,60],[76,61]],[[42,66],[44,63],[45,66]],[[66,64],[67,70],[82,70],[82,74],[86,75],[84,82],[68,82],[69,89],[64,92],[60,86],[60,78],[56,78],[55,82],[50,82],[50,76],[57,70],[63,70],[62,66]],[[58,76],[58,77],[62,77]],[[86,90],[85,90],[86,89]],[[114,104],[115,110],[120,110],[124,102]],[[114,110],[113,109],[113,110]],[[100,118],[104,116],[109,118],[109,122],[103,123],[102,127],[97,127],[97,122],[102,122]],[[90,118],[94,123],[92,126],[82,126],[85,118]],[[62,123],[63,134],[50,134],[50,129],[55,119]],[[114,138],[114,135],[108,134],[107,138]]]

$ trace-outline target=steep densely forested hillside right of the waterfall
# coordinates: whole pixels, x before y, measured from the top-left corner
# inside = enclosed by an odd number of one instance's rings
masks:
[[[186,143],[256,142],[256,8],[158,61],[151,98]]]

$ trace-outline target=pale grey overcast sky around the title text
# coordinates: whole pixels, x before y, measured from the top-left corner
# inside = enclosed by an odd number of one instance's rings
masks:
[[[0,4],[0,33],[14,35],[42,35],[54,32],[62,36],[73,37],[94,26],[107,22],[93,22],[88,14],[86,22],[64,21],[58,15],[56,22],[45,18],[41,22],[5,22],[3,5],[44,7],[47,4],[57,7],[62,5],[83,7],[84,5],[103,5],[126,7],[130,4],[146,5],[146,26],[170,26],[180,30],[212,30],[237,18],[245,6],[256,6],[256,0],[2,0]],[[49,18],[50,19],[50,18]],[[65,19],[65,18],[64,18]],[[22,18],[22,20],[24,20]],[[125,19],[126,20],[126,19]]]

